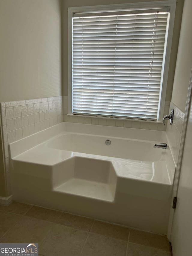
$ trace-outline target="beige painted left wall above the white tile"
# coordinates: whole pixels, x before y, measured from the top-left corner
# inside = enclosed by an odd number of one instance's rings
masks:
[[[0,102],[61,95],[59,0],[0,0]]]

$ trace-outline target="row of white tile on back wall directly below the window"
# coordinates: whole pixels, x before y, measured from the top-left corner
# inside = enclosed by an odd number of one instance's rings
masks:
[[[107,126],[118,126],[127,128],[138,128],[138,129],[149,129],[165,131],[166,126],[163,124],[153,122],[139,122],[130,120],[120,119],[109,119],[109,118],[97,118],[97,117],[82,117],[82,116],[68,116],[68,96],[63,97],[63,110],[64,110],[64,122],[92,124],[92,125],[107,125]],[[166,101],[164,115],[169,113],[170,101]]]

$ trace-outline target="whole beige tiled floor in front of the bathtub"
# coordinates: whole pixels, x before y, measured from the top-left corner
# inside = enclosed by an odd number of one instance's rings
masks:
[[[39,206],[0,205],[0,243],[39,243],[40,256],[170,256],[165,236]]]

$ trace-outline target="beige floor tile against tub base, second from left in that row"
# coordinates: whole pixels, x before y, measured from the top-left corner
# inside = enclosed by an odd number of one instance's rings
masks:
[[[61,216],[61,213],[62,212],[60,211],[33,206],[31,209],[29,209],[25,216],[55,222],[56,219]]]

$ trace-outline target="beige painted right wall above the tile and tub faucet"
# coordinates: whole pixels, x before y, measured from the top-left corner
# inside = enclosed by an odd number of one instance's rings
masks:
[[[185,0],[172,95],[173,103],[183,112],[185,110],[190,72],[192,68],[191,10],[192,1]]]

